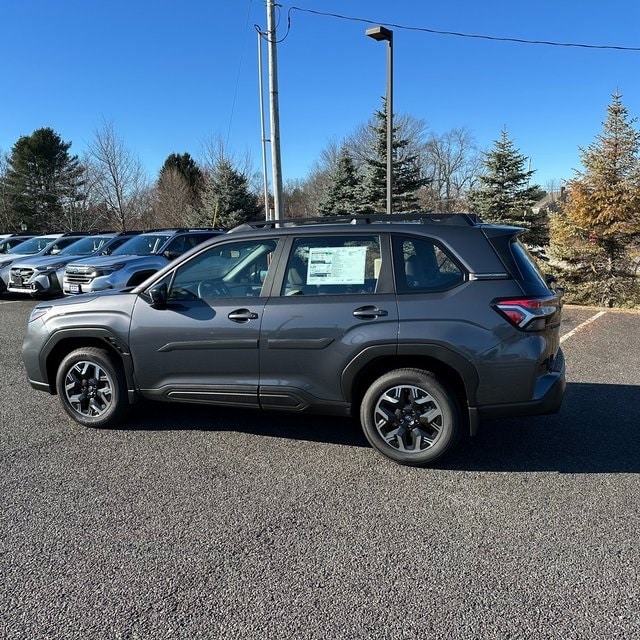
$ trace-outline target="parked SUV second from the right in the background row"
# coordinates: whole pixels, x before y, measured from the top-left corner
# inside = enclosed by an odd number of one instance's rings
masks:
[[[97,233],[76,239],[59,253],[16,260],[10,268],[7,290],[33,297],[62,293],[64,269],[69,262],[91,256],[108,256],[139,231]]]

